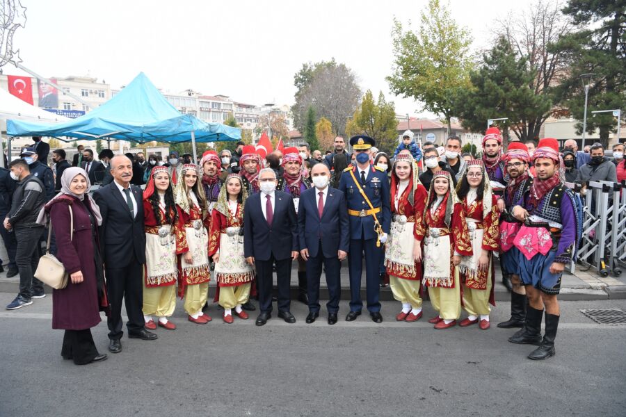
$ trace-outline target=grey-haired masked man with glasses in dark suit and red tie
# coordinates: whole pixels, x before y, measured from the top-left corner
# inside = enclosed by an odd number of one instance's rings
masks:
[[[272,312],[272,266],[276,264],[278,317],[288,323],[296,318],[289,311],[291,261],[298,259],[298,220],[291,195],[276,191],[276,173],[259,172],[261,192],[246,199],[243,216],[243,256],[256,265],[259,307],[256,325],[264,325]]]

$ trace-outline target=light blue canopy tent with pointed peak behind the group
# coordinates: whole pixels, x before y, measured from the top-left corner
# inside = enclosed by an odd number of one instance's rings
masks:
[[[176,110],[150,79],[141,72],[129,85],[86,115],[61,124],[7,120],[8,136],[51,136],[65,140],[117,139],[145,143],[240,140],[241,129],[207,123]]]

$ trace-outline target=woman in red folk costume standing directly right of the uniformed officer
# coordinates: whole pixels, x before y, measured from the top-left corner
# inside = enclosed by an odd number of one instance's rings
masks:
[[[402,303],[396,320],[414,322],[422,317],[422,240],[426,188],[417,179],[411,154],[398,154],[391,176],[392,225],[385,250],[394,298]]]

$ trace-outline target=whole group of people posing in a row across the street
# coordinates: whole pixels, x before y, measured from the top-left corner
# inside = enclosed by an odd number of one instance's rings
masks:
[[[53,328],[65,329],[62,356],[75,363],[106,359],[90,333],[100,311],[107,316],[109,351],[120,352],[122,302],[129,338],[154,340],[157,327],[176,329],[170,318],[177,297],[189,322],[210,322],[211,278],[224,322],[248,319],[246,311],[256,309],[252,298],[259,302],[256,325],[271,319],[274,301],[279,318],[296,322],[289,291],[294,261],[298,300],[309,309],[305,322],[319,318],[325,272],[327,320],[334,325],[344,259],[351,289],[347,321],[362,313],[364,267],[365,305],[374,322],[383,321],[383,277],[400,303],[396,320],[422,318],[427,292],[435,329],[458,323],[483,330],[490,328],[499,259],[513,291],[511,319],[498,327],[521,327],[509,341],[538,345],[531,359],[552,356],[561,274],[575,259],[581,221],[575,195],[564,185],[556,140],[542,139],[532,152],[511,142],[505,153],[500,132],[491,128],[481,159],[461,155],[454,136],[445,158],[434,145],[418,147],[415,155],[403,142],[393,160],[373,154],[375,142],[367,136],[351,138],[350,145],[351,155],[337,137],[335,152],[320,154],[308,169],[308,147],[284,149],[280,170],[264,167],[251,145],[238,144],[233,156],[204,152],[198,165],[172,156],[168,165],[150,163],[144,190],[131,185],[136,161],[111,155],[112,180],[93,196],[89,170],[74,166],[58,174],[59,192],[51,199],[25,158],[12,161],[17,188],[5,230],[15,231],[19,252],[19,245],[33,245],[52,227],[56,255],[70,275],[67,287],[53,292]],[[419,158],[426,166],[421,174]],[[36,251],[22,253],[20,292],[8,308],[45,296],[33,277],[37,261]]]

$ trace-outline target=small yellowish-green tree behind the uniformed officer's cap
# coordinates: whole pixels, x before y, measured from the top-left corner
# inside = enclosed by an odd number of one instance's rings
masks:
[[[393,101],[387,103],[383,92],[378,93],[378,102],[370,90],[365,92],[361,105],[355,110],[346,125],[348,136],[364,134],[376,140],[376,147],[389,153],[398,142],[398,121]]]

